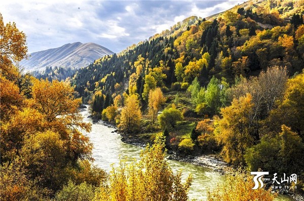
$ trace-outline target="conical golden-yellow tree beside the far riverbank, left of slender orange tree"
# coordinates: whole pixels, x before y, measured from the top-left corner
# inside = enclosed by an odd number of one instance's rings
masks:
[[[121,111],[119,129],[126,133],[134,133],[139,129],[141,120],[141,111],[138,97],[130,95],[125,100],[125,106]]]

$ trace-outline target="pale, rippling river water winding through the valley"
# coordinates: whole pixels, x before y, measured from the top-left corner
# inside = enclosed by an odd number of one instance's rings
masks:
[[[88,118],[90,115],[88,108],[81,113],[85,122],[92,123],[92,119]],[[108,173],[112,170],[112,166],[119,164],[120,158],[127,160],[132,158],[139,159],[139,154],[142,150],[141,147],[122,142],[120,134],[115,133],[114,130],[101,124],[92,124],[92,131],[90,133],[84,132],[85,135],[90,137],[94,146],[92,151],[95,159],[94,164]],[[207,191],[209,189],[212,190],[218,183],[223,182],[225,178],[225,176],[209,168],[175,160],[168,160],[168,163],[174,172],[183,171],[183,179],[192,174],[193,182],[188,193],[190,199],[206,200]],[[276,201],[283,200],[292,199],[282,195],[276,199]]]

